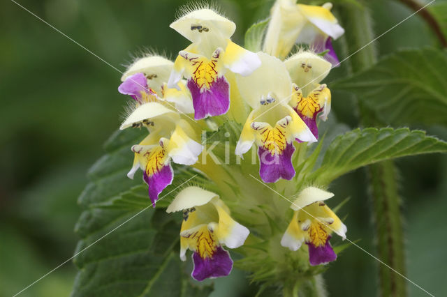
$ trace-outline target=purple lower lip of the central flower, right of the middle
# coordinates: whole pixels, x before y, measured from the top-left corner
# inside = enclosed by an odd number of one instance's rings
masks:
[[[293,144],[286,144],[284,151],[275,155],[261,146],[258,148],[259,175],[264,183],[274,183],[279,178],[291,180],[295,176],[295,169],[292,165],[294,151]]]

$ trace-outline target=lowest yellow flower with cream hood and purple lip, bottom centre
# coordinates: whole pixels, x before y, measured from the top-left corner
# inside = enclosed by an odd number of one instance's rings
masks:
[[[198,187],[179,192],[166,212],[183,211],[180,229],[180,259],[186,261],[186,250],[193,252],[192,277],[228,275],[233,261],[221,245],[239,248],[249,236],[249,229],[230,217],[229,208],[217,194]]]

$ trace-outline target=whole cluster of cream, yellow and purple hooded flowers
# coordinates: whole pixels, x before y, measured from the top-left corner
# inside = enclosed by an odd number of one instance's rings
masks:
[[[198,162],[205,148],[200,134],[211,129],[210,123],[240,124],[234,153],[242,157],[256,144],[263,182],[290,181],[295,176],[295,149],[317,142],[316,116],[321,114],[325,121],[330,112],[330,90],[320,82],[338,63],[331,42],[344,32],[331,7],[277,0],[262,51],[257,53],[230,40],[236,25],[215,10],[186,10],[170,27],[191,45],[179,51],[174,62],[150,54],[129,66],[118,90],[133,100],[120,129],[146,128],[148,135],[131,148],[135,157],[128,176],[142,170],[153,207],[173,183],[171,161],[196,167],[212,180],[216,164],[206,164],[206,158]],[[309,50],[290,54],[295,43],[309,45]],[[281,240],[293,251],[305,242],[312,266],[335,260],[330,234],[334,231],[344,238],[346,233],[323,203],[332,196],[313,186],[300,190]],[[183,212],[180,258],[185,261],[186,250],[193,252],[196,280],[228,275],[233,261],[223,246],[239,248],[249,236],[249,229],[230,216],[225,200],[189,186],[166,210]]]

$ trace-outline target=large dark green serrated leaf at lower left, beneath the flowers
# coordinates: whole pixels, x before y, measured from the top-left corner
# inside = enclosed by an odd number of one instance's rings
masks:
[[[80,271],[72,296],[189,297],[212,291],[194,285],[178,257],[181,216],[165,212],[165,199],[154,210],[142,179],[126,176],[130,147],[141,136],[138,130],[115,132],[105,144],[108,153],[89,171],[91,181],[79,199],[84,211],[75,227],[81,239],[73,261]],[[175,173],[161,197],[179,185],[179,178],[191,177],[182,167]]]

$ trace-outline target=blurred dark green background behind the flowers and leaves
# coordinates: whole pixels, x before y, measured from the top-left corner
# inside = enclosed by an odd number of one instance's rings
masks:
[[[168,27],[185,2],[19,3],[124,70],[131,56],[148,48],[173,57],[186,47],[187,40]],[[242,43],[252,22],[268,14],[268,3],[272,1],[219,1],[237,24],[233,37],[237,43]],[[397,1],[374,1],[370,8],[377,35],[413,12]],[[73,226],[80,214],[76,199],[87,183],[87,169],[103,154],[103,142],[121,121],[126,98],[117,93],[121,75],[116,70],[13,1],[1,1],[0,16],[0,296],[12,296],[73,255],[78,241]],[[376,44],[379,56],[425,45],[439,47],[417,15]],[[342,99],[332,98],[336,114],[352,110],[351,102]],[[345,121],[342,114],[339,121]],[[413,128],[447,139],[445,127]],[[432,294],[446,296],[447,158],[426,155],[399,160],[397,165],[402,176],[408,277]],[[360,239],[358,244],[375,254],[371,201],[362,173],[339,178],[331,189],[339,197],[351,197],[344,206],[349,213],[349,238]],[[330,295],[376,296],[378,265],[364,252],[349,248],[325,273]],[[75,273],[68,262],[20,296],[68,296]],[[233,281],[244,287],[235,276],[223,282]],[[409,289],[411,296],[423,296],[411,284]]]

